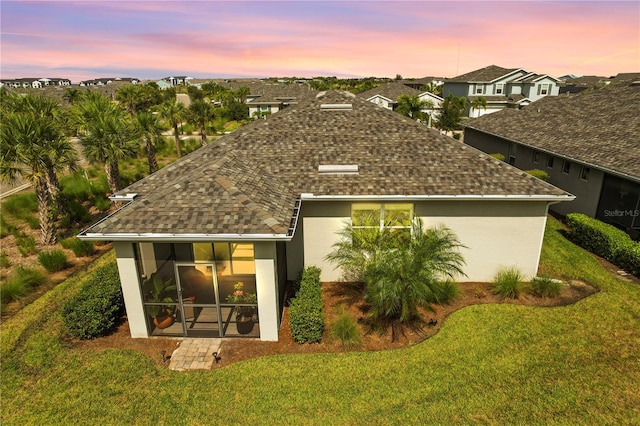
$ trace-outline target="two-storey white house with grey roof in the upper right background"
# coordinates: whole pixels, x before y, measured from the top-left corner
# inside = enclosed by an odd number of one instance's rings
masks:
[[[446,98],[451,94],[466,98],[467,115],[479,117],[507,107],[521,108],[545,96],[557,96],[559,82],[557,78],[522,68],[490,65],[445,80],[442,96]],[[471,107],[480,97],[486,100],[486,107]]]

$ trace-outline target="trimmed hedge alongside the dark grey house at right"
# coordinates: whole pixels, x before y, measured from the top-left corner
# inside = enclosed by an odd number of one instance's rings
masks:
[[[571,241],[633,275],[640,274],[640,243],[626,232],[582,213],[570,213],[565,221]]]

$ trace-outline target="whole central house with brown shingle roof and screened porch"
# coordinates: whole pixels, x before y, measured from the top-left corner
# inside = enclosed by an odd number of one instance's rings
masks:
[[[309,97],[220,137],[114,194],[122,208],[80,233],[113,241],[132,337],[277,340],[287,280],[304,266],[340,280],[326,256],[363,213],[403,214],[458,236],[463,281],[537,272],[547,209],[573,196],[351,93]],[[153,274],[153,275],[152,275]],[[177,283],[149,297],[145,280]],[[257,321],[242,334],[229,301],[242,283]],[[143,289],[144,287],[144,289]],[[178,296],[178,294],[180,296]],[[181,314],[152,321],[167,305]]]

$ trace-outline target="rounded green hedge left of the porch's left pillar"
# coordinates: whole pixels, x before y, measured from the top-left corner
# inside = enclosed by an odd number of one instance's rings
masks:
[[[62,308],[69,334],[84,340],[107,334],[123,314],[124,300],[115,263],[97,269]]]

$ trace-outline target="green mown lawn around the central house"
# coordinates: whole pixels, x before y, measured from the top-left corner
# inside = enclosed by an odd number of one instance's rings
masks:
[[[476,305],[405,349],[277,355],[211,371],[72,348],[59,308],[75,277],[2,324],[0,422],[640,424],[640,287],[560,227],[549,220],[541,273],[601,289],[575,305]]]

